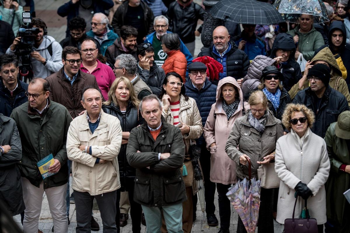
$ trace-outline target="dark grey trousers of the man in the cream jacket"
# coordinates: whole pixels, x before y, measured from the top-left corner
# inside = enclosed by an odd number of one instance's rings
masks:
[[[119,208],[111,203],[116,203],[120,199],[120,193],[116,191],[106,192],[104,194],[91,196],[88,192],[79,192],[73,190],[75,199],[75,208],[77,215],[77,233],[91,232],[91,212],[93,198],[96,199],[98,209],[100,210],[103,232],[119,233],[119,220],[116,222],[116,215],[120,215]],[[119,218],[118,218],[119,219]]]

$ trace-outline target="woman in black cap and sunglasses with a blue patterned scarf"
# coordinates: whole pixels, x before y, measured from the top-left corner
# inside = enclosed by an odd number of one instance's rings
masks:
[[[286,105],[292,102],[287,90],[281,85],[282,80],[283,75],[275,66],[266,66],[258,86],[266,95],[268,108],[273,112],[273,116],[280,120]]]

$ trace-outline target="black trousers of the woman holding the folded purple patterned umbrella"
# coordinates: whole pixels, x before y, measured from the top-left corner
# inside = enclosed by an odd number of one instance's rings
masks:
[[[273,189],[261,188],[258,233],[273,233]],[[238,216],[237,233],[247,233],[241,218]]]

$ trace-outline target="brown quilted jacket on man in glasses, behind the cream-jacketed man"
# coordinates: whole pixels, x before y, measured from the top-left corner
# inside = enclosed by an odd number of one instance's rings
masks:
[[[76,118],[80,112],[84,110],[83,105],[80,103],[82,99],[82,90],[84,87],[98,88],[96,78],[92,74],[87,74],[79,70],[76,80],[71,83],[66,79],[63,73],[63,67],[56,73],[47,77],[50,84],[50,100],[62,104],[69,111],[72,118]]]

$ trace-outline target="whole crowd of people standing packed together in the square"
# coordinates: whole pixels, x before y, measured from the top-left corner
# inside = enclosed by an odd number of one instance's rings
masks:
[[[199,54],[208,8],[192,0],[69,0],[57,9],[67,16],[61,42],[31,20],[29,79],[15,36],[21,1],[0,3],[0,201],[21,214],[23,232],[41,232],[45,192],[52,232],[68,231],[70,203],[76,232],[98,231],[96,200],[103,232],[119,233],[130,212],[133,233],[141,224],[190,233],[199,164],[207,223],[228,233],[228,189],[267,163],[281,181],[261,188],[259,233],[292,218],[296,198],[297,213],[308,200],[319,233],[350,232],[346,0],[324,2],[322,24],[307,12],[296,24],[223,22]],[[237,232],[246,232],[241,217]]]

